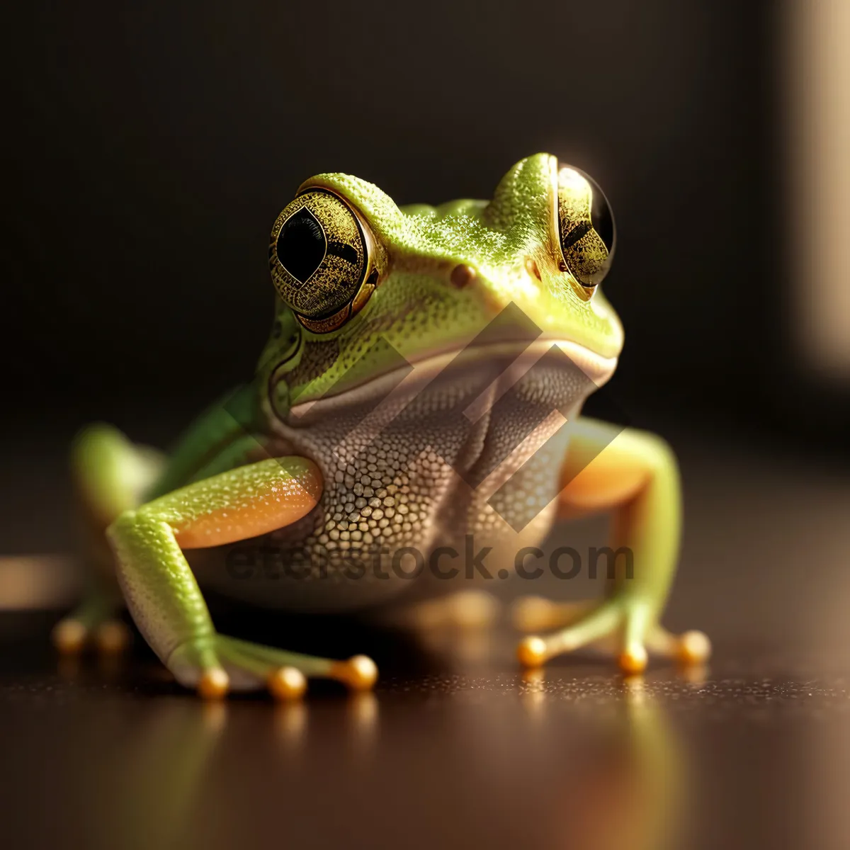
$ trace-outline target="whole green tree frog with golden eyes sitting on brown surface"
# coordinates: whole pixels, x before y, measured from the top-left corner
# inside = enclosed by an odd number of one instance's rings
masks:
[[[274,321],[250,382],[168,454],[105,423],[77,436],[96,569],[54,643],[121,649],[126,605],[203,698],[299,699],[311,678],[371,689],[366,655],[218,632],[204,592],[280,616],[448,598],[465,591],[445,579],[480,579],[480,553],[504,577],[542,555],[553,524],[603,512],[630,563],[597,599],[520,599],[519,664],[588,646],[630,675],[650,653],[704,662],[703,632],[660,622],[682,528],[677,458],[654,433],[581,412],[624,343],[601,286],[614,253],[602,190],[547,153],[490,200],[438,206],[399,207],[343,173],[306,180],[271,230]],[[457,564],[471,550],[468,575]]]

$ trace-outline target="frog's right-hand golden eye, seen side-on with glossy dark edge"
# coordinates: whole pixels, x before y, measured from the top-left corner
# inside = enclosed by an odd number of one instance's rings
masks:
[[[570,166],[558,169],[558,237],[562,269],[592,290],[608,274],[614,256],[614,216],[598,185]]]

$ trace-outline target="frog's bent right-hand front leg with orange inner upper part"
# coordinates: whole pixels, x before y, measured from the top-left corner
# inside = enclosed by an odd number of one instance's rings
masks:
[[[619,433],[618,433],[619,432]],[[591,605],[520,606],[521,625],[562,626],[519,644],[519,660],[537,666],[564,652],[606,638],[615,640],[620,666],[640,672],[647,649],[696,663],[711,647],[702,632],[673,636],[659,618],[676,570],[682,526],[676,457],[654,434],[581,418],[572,427],[560,494],[560,514],[613,510],[615,551],[632,553],[633,574],[621,558],[605,598]]]

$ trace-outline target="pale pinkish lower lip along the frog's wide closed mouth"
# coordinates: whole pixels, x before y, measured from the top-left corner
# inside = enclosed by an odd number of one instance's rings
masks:
[[[616,357],[604,357],[580,343],[557,338],[539,338],[527,346],[503,342],[439,352],[432,350],[377,377],[349,384],[338,393],[292,405],[288,420],[296,427],[307,427],[352,405],[368,404],[374,408],[385,401],[392,403],[391,399],[409,399],[412,395],[428,392],[428,388],[438,383],[443,388],[453,381],[460,384],[461,377],[471,372],[481,375],[481,383],[472,393],[479,398],[471,399],[470,411],[476,404],[484,404],[480,399],[485,395],[489,399],[487,403],[492,405],[519,381],[529,377],[537,375],[545,385],[547,370],[553,368],[574,373],[573,400],[581,401],[609,381],[616,365]]]

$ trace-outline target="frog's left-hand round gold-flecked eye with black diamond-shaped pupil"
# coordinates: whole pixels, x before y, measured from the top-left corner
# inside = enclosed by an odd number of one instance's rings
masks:
[[[326,333],[342,326],[377,283],[374,237],[338,195],[309,189],[280,213],[271,231],[275,289],[303,326]]]

